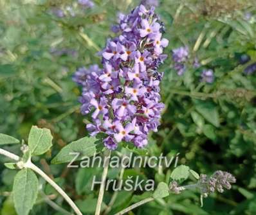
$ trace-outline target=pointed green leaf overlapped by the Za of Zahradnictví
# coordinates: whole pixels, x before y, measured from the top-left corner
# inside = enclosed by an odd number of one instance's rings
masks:
[[[78,141],[69,143],[62,148],[56,157],[51,160],[52,164],[62,164],[72,160],[82,160],[83,157],[91,157],[96,153],[96,144],[98,141],[95,137],[84,137]],[[75,153],[79,154],[76,157]]]

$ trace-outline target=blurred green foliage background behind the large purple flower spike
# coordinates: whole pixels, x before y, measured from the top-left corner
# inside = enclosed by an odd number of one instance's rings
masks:
[[[93,8],[85,9],[75,0],[0,0],[0,133],[26,141],[32,125],[50,128],[53,150],[35,162],[54,176],[84,214],[93,214],[97,191],[89,189],[90,176],[100,175],[101,169],[67,169],[50,165],[50,159],[68,142],[86,135],[73,73],[78,67],[100,64],[96,53],[114,36],[110,28],[117,13],[136,5],[132,0],[95,0]],[[256,71],[244,74],[256,62],[255,5],[254,0],[160,1],[157,11],[170,41],[169,57],[160,69],[165,72],[161,95],[166,108],[147,149],[150,155],[179,153],[179,164],[198,173],[229,171],[237,184],[206,198],[202,208],[199,194],[185,191],[143,205],[134,214],[256,214]],[[183,76],[172,69],[171,50],[180,46],[190,49]],[[250,56],[249,61],[244,64],[242,56]],[[193,67],[195,57],[201,63],[198,69]],[[200,82],[203,69],[214,69],[214,83]],[[19,146],[6,149],[18,153]],[[124,177],[141,175],[161,182],[170,170],[126,169]],[[117,178],[119,171],[112,169],[109,177]],[[15,214],[10,197],[15,172],[0,166],[1,215]],[[62,214],[44,194],[69,210],[53,189],[41,184],[42,194],[31,214]],[[105,204],[112,194],[105,194]],[[145,196],[118,193],[110,214]]]

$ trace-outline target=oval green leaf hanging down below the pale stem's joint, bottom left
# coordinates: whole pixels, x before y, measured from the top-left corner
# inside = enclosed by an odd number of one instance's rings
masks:
[[[19,215],[28,215],[38,193],[37,176],[31,169],[24,168],[14,178],[14,205]]]

